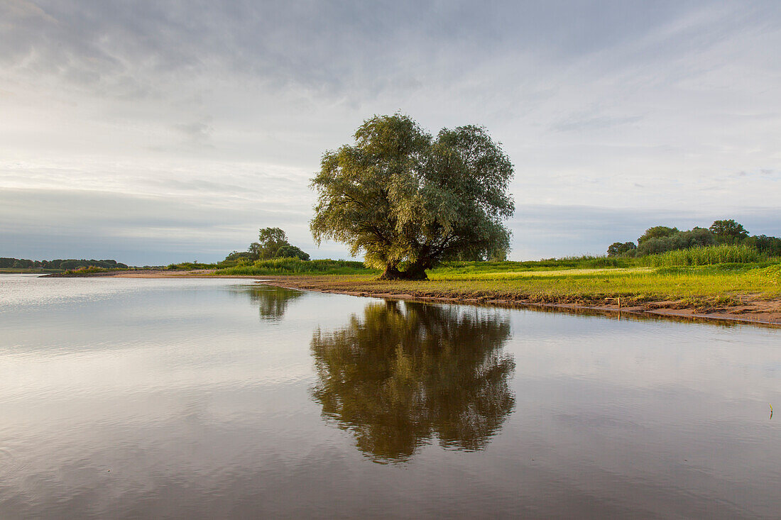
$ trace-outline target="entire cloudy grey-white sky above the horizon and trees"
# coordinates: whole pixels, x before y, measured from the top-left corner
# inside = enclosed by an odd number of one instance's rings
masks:
[[[213,261],[373,114],[487,126],[511,258],[781,235],[781,2],[0,2],[0,256]]]

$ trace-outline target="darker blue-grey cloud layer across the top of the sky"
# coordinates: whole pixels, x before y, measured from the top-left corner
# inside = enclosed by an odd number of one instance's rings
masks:
[[[414,89],[432,73],[458,80],[477,64],[515,52],[571,62],[642,40],[704,5],[710,2],[14,0],[5,8],[11,21],[0,31],[0,46],[5,66],[54,73],[115,96],[214,67],[341,95]],[[773,9],[772,2],[763,8]],[[754,10],[744,11],[742,22],[758,23]],[[729,14],[721,21],[734,22]],[[679,51],[670,45],[669,53]],[[661,52],[654,48],[654,59]],[[415,69],[419,74],[410,73]]]

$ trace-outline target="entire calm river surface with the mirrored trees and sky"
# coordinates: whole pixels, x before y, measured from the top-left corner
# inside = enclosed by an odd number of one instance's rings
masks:
[[[0,275],[0,518],[779,518],[781,331]]]

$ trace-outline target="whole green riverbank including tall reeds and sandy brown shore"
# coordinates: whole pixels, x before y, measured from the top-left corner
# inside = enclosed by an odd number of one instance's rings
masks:
[[[116,276],[262,277],[285,287],[347,294],[502,305],[620,306],[781,322],[781,258],[769,258],[745,246],[669,251],[641,258],[450,262],[427,273],[429,280],[425,281],[376,280],[379,272],[366,269],[361,262],[278,258],[225,269],[166,269]],[[107,273],[93,276],[99,274]],[[66,276],[74,275],[79,276]]]

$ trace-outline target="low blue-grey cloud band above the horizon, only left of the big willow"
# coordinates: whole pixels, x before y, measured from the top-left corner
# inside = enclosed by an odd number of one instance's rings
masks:
[[[244,249],[264,225],[298,230],[305,216],[280,203],[222,207],[201,199],[100,191],[0,191],[0,256],[115,257],[141,265],[202,261]],[[308,234],[308,232],[306,232]],[[311,238],[296,241],[314,250]]]

